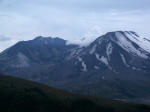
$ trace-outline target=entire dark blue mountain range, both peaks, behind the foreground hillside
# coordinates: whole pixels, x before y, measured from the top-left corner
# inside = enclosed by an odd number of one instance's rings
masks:
[[[74,93],[150,102],[150,41],[133,31],[109,32],[86,47],[37,37],[3,51],[0,66]]]

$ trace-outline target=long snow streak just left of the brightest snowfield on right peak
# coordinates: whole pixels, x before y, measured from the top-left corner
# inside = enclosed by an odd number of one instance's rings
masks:
[[[116,32],[115,35],[118,39],[118,42],[117,42],[118,45],[121,46],[124,50],[126,50],[129,53],[132,53],[133,55],[137,55],[137,56],[140,56],[140,57],[145,58],[145,59],[148,58],[148,56],[145,53],[136,49],[132,45],[132,43],[129,40],[127,40],[127,38],[123,34],[121,34],[120,32]]]

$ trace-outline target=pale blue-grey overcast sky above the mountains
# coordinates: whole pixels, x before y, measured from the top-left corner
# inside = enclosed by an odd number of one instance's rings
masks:
[[[150,38],[150,0],[0,0],[0,51],[39,35],[78,43],[116,30]]]

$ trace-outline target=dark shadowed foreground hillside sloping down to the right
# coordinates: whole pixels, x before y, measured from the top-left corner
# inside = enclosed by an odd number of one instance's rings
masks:
[[[0,76],[3,112],[150,112],[150,106],[75,95],[39,83]]]

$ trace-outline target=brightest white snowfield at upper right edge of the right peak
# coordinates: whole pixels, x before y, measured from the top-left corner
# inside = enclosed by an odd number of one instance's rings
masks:
[[[145,51],[150,53],[150,42],[138,35],[131,32],[125,32],[125,35],[133,42],[135,42],[139,47],[143,48]]]

